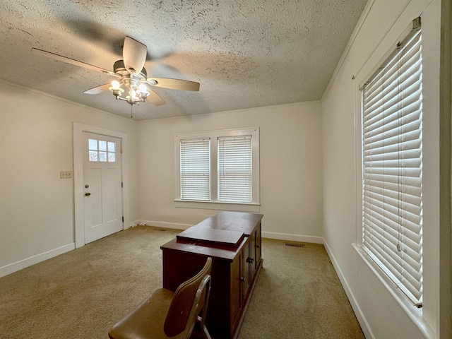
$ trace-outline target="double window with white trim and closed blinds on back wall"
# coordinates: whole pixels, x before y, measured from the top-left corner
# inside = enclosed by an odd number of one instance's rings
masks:
[[[258,128],[176,136],[175,201],[258,204]]]

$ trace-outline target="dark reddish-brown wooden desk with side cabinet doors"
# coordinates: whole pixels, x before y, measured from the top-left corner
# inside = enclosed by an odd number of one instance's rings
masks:
[[[182,232],[179,239],[172,239],[160,247],[163,251],[163,287],[173,291],[198,273],[208,256],[213,259],[206,321],[213,338],[237,338],[239,334],[262,267],[262,217],[253,213],[220,212],[190,227],[186,234]],[[203,239],[203,230],[207,241]],[[222,230],[227,243],[221,240]],[[239,237],[240,234],[243,236]],[[237,245],[232,246],[237,237],[240,238]]]

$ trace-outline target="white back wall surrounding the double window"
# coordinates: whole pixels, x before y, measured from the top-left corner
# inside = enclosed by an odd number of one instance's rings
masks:
[[[321,242],[321,103],[140,121],[139,212],[153,225],[188,227],[218,210],[174,207],[174,135],[260,127],[263,235]]]

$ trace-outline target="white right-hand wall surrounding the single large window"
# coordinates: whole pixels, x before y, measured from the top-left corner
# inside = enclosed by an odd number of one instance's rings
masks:
[[[362,25],[324,95],[323,210],[328,253],[367,338],[449,338],[440,333],[439,16],[440,0],[369,1]],[[357,85],[422,17],[424,57],[424,307],[408,309],[383,286],[352,244],[359,243],[359,90]],[[355,76],[355,81],[352,77]],[[358,108],[357,108],[358,107]],[[355,125],[357,124],[357,125]],[[358,160],[359,161],[359,160]],[[442,183],[448,185],[448,182]],[[450,227],[450,225],[444,225]],[[450,246],[450,241],[449,241]],[[450,262],[450,261],[448,261]],[[446,267],[450,271],[450,267]],[[449,293],[447,293],[449,295]],[[449,303],[445,299],[443,302]],[[442,317],[442,318],[441,318]]]

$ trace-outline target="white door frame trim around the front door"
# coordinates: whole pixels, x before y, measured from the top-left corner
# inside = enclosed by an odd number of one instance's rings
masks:
[[[85,245],[85,218],[83,215],[83,132],[96,133],[104,136],[114,136],[122,139],[121,170],[122,182],[122,211],[124,215],[124,225],[129,225],[129,158],[127,134],[102,129],[100,127],[79,124],[73,122],[73,201],[74,201],[74,223],[75,223],[75,243],[76,248]]]

